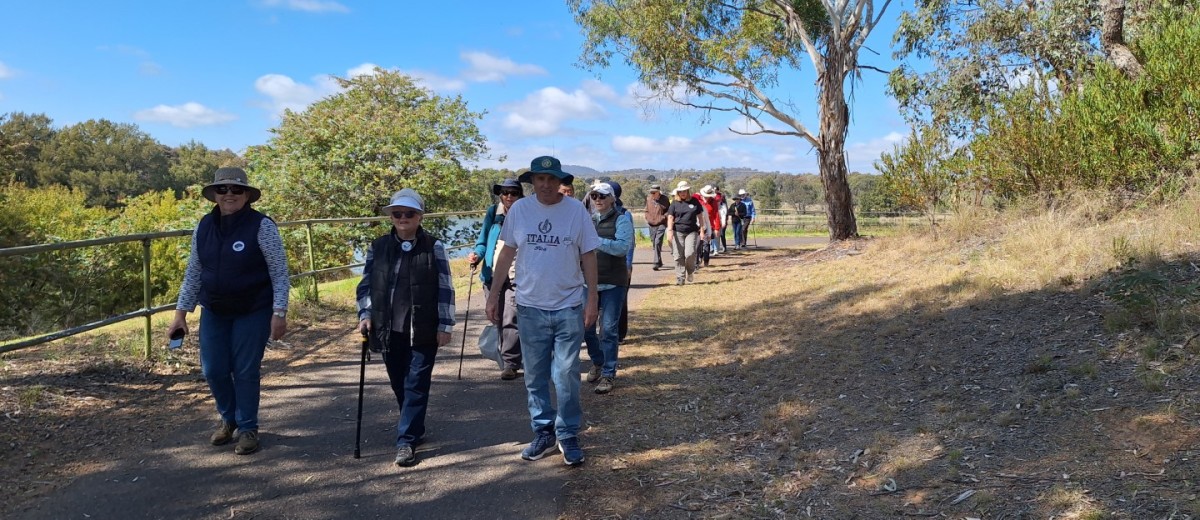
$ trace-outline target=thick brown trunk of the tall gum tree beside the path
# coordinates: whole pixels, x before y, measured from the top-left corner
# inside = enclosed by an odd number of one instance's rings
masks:
[[[817,101],[821,103],[821,147],[817,156],[821,167],[821,184],[826,190],[826,217],[829,222],[829,240],[846,240],[858,237],[854,205],[850,196],[846,168],[846,131],[850,126],[850,109],[846,106],[844,59],[834,49],[826,55],[826,72],[820,78]]]

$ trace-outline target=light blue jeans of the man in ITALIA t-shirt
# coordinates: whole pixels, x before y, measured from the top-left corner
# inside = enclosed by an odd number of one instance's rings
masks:
[[[580,343],[583,342],[583,305],[545,311],[517,305],[521,354],[524,361],[526,393],[529,395],[529,425],[534,434],[554,430],[554,437],[570,438],[580,432]],[[554,384],[558,410],[550,401]]]

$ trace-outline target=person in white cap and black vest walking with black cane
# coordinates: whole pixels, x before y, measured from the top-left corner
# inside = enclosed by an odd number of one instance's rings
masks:
[[[454,330],[454,283],[445,247],[421,228],[421,196],[400,190],[383,210],[392,228],[367,249],[356,291],[359,330],[383,353],[400,405],[395,464],[412,466],[425,437],[433,359]]]

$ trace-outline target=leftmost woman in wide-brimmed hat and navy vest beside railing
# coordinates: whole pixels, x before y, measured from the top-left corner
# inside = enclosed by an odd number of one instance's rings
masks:
[[[258,450],[258,401],[268,337],[288,328],[288,259],[280,229],[250,204],[262,192],[241,168],[220,168],[204,198],[216,203],[192,233],[175,319],[167,329],[187,333],[187,313],[199,304],[200,367],[221,423],[209,441],[234,453]]]

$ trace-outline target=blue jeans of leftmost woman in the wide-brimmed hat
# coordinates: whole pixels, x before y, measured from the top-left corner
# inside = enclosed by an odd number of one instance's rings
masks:
[[[200,312],[200,371],[226,423],[258,430],[263,352],[271,336],[271,307],[245,315]]]

